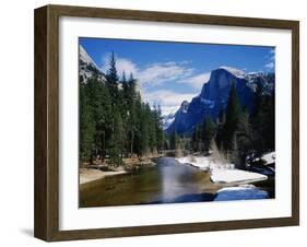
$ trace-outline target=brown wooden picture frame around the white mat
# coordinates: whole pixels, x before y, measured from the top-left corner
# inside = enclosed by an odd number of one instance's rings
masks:
[[[59,231],[59,17],[104,17],[292,31],[292,216],[263,220]],[[35,10],[35,220],[34,235],[54,240],[175,234],[299,224],[299,22],[119,9],[46,5]]]

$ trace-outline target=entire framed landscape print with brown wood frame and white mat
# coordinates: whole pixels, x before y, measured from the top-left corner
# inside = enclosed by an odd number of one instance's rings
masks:
[[[35,236],[299,223],[297,21],[35,10]]]

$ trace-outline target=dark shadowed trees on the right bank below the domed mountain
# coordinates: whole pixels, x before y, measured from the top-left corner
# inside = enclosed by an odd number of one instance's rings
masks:
[[[245,167],[247,157],[260,157],[275,149],[275,98],[274,92],[263,92],[257,84],[253,107],[241,106],[235,83],[232,83],[227,106],[217,119],[205,117],[191,134],[190,149],[209,154],[212,145],[228,154],[229,162]]]

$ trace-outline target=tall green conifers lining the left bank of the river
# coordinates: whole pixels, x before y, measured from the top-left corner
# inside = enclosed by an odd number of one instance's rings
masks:
[[[137,79],[118,75],[114,52],[105,80],[80,77],[80,161],[115,165],[164,148],[161,107],[142,102]]]

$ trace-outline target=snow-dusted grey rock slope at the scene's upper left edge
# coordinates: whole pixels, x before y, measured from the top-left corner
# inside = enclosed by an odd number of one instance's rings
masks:
[[[79,46],[79,75],[83,79],[84,83],[94,75],[105,81],[104,73],[81,45]]]

